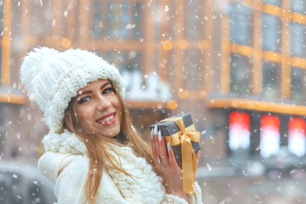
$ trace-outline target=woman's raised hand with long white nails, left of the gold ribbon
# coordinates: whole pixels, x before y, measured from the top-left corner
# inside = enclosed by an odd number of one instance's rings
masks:
[[[151,131],[151,145],[153,159],[156,170],[162,178],[162,184],[167,194],[172,194],[183,199],[187,199],[187,194],[183,191],[182,169],[175,160],[173,149],[170,145],[165,145],[164,137],[157,127]],[[167,155],[168,152],[168,155]]]

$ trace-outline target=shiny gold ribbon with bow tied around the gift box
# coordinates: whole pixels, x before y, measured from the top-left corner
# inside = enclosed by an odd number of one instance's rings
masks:
[[[172,117],[161,120],[159,122],[175,121],[180,131],[171,135],[165,136],[165,141],[169,142],[170,146],[182,146],[182,170],[183,170],[183,190],[190,196],[194,194],[194,182],[196,181],[197,158],[191,141],[200,141],[200,132],[195,130],[192,124],[185,128],[182,117]]]

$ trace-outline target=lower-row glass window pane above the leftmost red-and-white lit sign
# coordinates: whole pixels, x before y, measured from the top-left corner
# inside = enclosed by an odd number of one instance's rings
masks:
[[[231,56],[231,92],[250,94],[252,91],[252,61],[242,55]]]

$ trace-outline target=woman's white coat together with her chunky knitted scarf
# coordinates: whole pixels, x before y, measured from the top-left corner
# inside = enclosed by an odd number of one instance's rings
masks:
[[[58,204],[82,204],[89,159],[83,143],[74,134],[67,131],[63,134],[49,134],[44,137],[47,152],[39,159],[38,167],[55,183]],[[110,154],[120,159],[122,167],[135,181],[106,165],[95,204],[202,204],[201,189],[197,182],[194,196],[188,195],[187,201],[165,194],[160,177],[153,172],[146,159],[136,157],[129,145],[116,147],[115,150],[110,151]],[[108,164],[106,160],[105,162]]]

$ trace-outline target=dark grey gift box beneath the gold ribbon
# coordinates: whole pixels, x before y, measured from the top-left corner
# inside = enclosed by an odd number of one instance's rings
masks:
[[[184,120],[185,128],[187,128],[187,127],[189,127],[190,125],[193,124],[190,113],[173,115],[173,116],[168,117],[168,118],[172,118],[172,117],[182,117],[183,120]],[[155,124],[150,126],[150,130],[152,130],[155,127],[155,125],[157,126],[158,130],[160,130],[161,135],[164,136],[164,137],[172,136],[173,134],[180,131],[179,127],[177,126],[177,124],[175,123],[174,120],[155,123]],[[197,150],[201,149],[199,142],[191,141],[191,145],[192,145],[195,152]],[[175,159],[176,160],[182,159],[181,144],[176,145],[176,146],[172,146],[172,148],[173,148],[173,151],[175,153]]]

